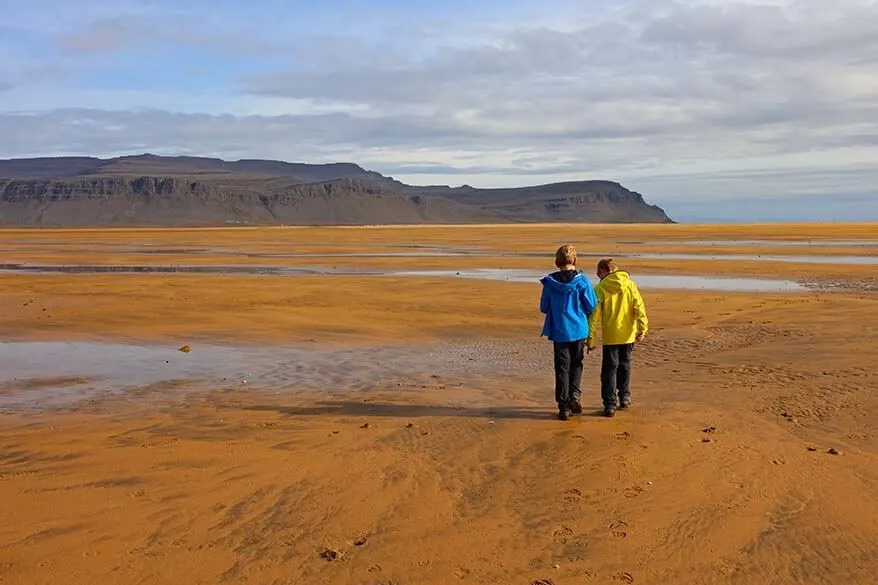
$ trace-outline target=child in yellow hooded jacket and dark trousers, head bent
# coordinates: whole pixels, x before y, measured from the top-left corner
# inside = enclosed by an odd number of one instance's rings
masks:
[[[616,394],[619,408],[631,405],[631,352],[636,342],[643,341],[649,328],[646,306],[627,272],[619,270],[615,260],[603,258],[598,262],[595,286],[597,307],[589,317],[588,351],[595,347],[595,332],[601,325],[603,359],[601,361],[601,399],[604,416],[616,414]]]

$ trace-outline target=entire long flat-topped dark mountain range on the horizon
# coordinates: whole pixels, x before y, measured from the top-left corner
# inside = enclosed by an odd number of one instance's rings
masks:
[[[352,163],[200,157],[0,160],[0,225],[670,223],[610,181],[414,186]]]

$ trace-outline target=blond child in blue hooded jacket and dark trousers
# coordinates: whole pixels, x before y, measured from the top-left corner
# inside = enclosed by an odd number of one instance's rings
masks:
[[[540,279],[543,285],[540,311],[546,314],[541,335],[554,344],[558,418],[569,420],[571,413],[582,413],[580,383],[585,340],[589,336],[588,318],[598,302],[588,277],[576,270],[573,246],[558,248],[555,266],[558,272]]]

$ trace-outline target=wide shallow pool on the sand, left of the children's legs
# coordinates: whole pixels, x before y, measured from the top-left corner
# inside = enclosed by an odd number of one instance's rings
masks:
[[[0,342],[0,411],[115,398],[144,407],[204,390],[292,392],[460,387],[548,367],[545,343],[481,341],[352,348]],[[460,395],[457,395],[458,399]],[[478,399],[477,394],[473,399]]]

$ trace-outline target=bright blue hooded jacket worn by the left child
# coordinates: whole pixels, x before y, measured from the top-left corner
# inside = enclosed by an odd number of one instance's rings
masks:
[[[588,317],[598,304],[591,282],[582,272],[561,270],[540,279],[540,311],[546,314],[540,335],[551,341],[579,341],[588,337]]]

